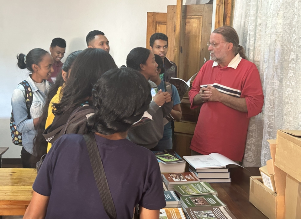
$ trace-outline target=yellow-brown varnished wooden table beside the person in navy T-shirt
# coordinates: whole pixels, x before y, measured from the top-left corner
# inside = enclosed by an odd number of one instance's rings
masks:
[[[36,169],[0,168],[0,215],[24,215],[36,176]]]

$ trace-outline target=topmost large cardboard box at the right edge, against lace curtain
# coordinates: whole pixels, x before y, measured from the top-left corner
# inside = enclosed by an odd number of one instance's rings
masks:
[[[277,130],[275,165],[301,182],[301,130]]]

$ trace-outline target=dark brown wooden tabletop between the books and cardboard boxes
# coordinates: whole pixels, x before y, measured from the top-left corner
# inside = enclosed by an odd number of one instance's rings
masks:
[[[241,167],[229,168],[231,183],[210,183],[210,185],[237,219],[267,219],[249,202],[250,176],[260,176],[259,169],[248,167],[247,170]]]

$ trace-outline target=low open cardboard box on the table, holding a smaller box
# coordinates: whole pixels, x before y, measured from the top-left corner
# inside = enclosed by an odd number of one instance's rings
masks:
[[[250,202],[269,219],[277,218],[277,194],[263,185],[261,176],[250,177]]]

